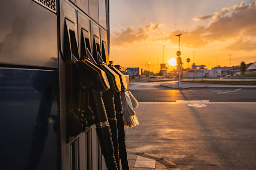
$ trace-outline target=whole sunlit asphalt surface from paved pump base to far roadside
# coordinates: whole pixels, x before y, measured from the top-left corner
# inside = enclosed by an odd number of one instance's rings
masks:
[[[135,109],[139,125],[126,129],[128,150],[163,157],[186,170],[255,169],[255,89],[175,90],[159,87],[159,83],[143,88],[138,84],[131,83],[132,94],[148,103]],[[220,103],[149,103],[176,100]],[[228,103],[232,101],[237,103]]]

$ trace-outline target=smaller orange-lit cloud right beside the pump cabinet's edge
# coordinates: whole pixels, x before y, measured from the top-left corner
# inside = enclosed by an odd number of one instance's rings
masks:
[[[114,32],[111,34],[111,45],[122,46],[132,44],[134,42],[145,41],[149,38],[149,33],[157,31],[161,27],[160,23],[152,24],[149,23],[144,28],[139,28],[138,31],[134,31],[133,27],[129,27],[121,32]]]

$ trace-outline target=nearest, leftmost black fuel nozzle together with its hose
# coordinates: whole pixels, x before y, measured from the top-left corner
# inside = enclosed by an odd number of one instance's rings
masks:
[[[72,57],[72,62],[75,69],[78,70],[77,73],[79,73],[80,87],[91,90],[93,94],[96,132],[107,168],[117,169],[110,125],[102,98],[103,92],[108,91],[111,86],[106,72],[95,65],[96,62],[91,57],[92,55],[88,49],[87,56],[89,57],[83,57],[81,60]]]

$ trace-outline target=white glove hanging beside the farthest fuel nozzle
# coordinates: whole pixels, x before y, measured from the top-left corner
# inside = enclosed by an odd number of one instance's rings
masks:
[[[130,93],[131,94],[131,93]],[[132,96],[132,94],[131,94]],[[133,96],[132,96],[133,97]],[[121,92],[121,99],[122,99],[122,106],[123,106],[123,113],[124,113],[124,126],[125,127],[134,127],[136,124],[138,125],[138,118],[135,115],[135,111],[133,110],[132,101],[129,95],[129,91]],[[138,107],[137,100],[133,97],[133,101]],[[136,101],[136,102],[135,102]]]

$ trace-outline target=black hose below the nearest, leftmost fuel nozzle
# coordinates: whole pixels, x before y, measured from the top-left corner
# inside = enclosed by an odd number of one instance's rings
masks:
[[[114,147],[111,138],[110,125],[108,124],[107,113],[102,98],[102,91],[93,90],[95,109],[97,113],[95,114],[96,121],[96,132],[100,141],[102,154],[105,158],[105,163],[108,170],[117,170],[117,164],[114,156]]]

